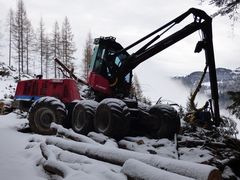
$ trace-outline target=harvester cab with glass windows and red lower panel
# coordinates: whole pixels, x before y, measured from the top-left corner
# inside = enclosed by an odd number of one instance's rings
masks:
[[[126,51],[118,53],[123,47],[116,42],[114,37],[96,38],[94,44],[88,76],[89,86],[95,92],[102,93],[102,99],[105,97],[128,97],[132,83],[132,71],[124,77],[118,87],[115,87],[118,82],[118,78],[115,77],[129,54]]]

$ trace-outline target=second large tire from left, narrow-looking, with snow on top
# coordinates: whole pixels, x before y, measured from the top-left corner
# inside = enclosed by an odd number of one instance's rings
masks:
[[[98,103],[93,100],[81,100],[72,112],[72,129],[79,134],[88,134],[93,128]]]

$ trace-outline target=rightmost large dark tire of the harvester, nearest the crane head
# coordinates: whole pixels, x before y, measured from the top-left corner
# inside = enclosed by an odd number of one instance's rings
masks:
[[[153,116],[157,124],[152,132],[155,137],[172,139],[174,134],[179,132],[180,118],[173,107],[157,104],[150,108],[149,113]]]

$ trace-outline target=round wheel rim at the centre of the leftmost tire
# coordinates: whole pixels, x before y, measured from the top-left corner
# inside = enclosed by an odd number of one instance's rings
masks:
[[[36,125],[40,125],[42,128],[49,128],[52,122],[56,122],[55,114],[51,109],[48,108],[40,108],[36,112],[36,119],[39,123]]]

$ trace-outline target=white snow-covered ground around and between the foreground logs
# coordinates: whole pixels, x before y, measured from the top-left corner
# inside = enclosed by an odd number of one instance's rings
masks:
[[[40,144],[49,136],[18,132],[26,122],[25,118],[19,118],[16,113],[0,116],[0,179],[62,179],[46,173],[42,166],[44,158]],[[187,139],[187,137],[184,138]],[[176,145],[167,139],[127,137],[121,140],[119,145],[144,154],[158,154],[161,157],[177,159]],[[53,145],[48,147],[54,154],[58,154],[58,158],[64,162],[64,167],[67,165],[67,176],[64,179],[127,179],[127,176],[121,172],[121,166],[63,151]],[[109,146],[106,144],[104,147]],[[201,148],[180,148],[179,154],[180,159],[192,162],[204,162],[212,158],[210,151]]]

